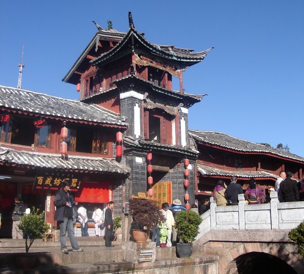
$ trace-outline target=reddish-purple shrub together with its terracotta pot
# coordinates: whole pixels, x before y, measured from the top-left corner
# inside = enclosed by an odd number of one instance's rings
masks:
[[[138,243],[146,242],[149,231],[154,230],[161,221],[165,221],[156,202],[151,199],[130,199],[129,212],[133,218],[132,235]]]

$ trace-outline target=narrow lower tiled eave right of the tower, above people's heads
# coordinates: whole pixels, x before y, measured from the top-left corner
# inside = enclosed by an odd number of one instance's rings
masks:
[[[266,172],[266,171],[230,171],[230,170],[224,170],[224,169],[219,169],[213,166],[208,166],[204,164],[198,164],[198,171],[202,175],[207,175],[207,176],[237,176],[239,178],[274,178],[277,179],[278,176]]]

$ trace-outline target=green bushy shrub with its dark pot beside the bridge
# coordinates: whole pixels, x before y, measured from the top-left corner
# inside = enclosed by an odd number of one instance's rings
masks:
[[[199,234],[202,218],[192,210],[184,210],[177,214],[177,236],[180,243],[176,244],[176,253],[179,258],[187,258],[192,254],[192,243]]]

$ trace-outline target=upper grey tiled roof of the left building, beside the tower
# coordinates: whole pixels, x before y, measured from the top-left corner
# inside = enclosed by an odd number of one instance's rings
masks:
[[[120,116],[98,105],[12,87],[0,86],[0,106],[54,118],[126,127]]]

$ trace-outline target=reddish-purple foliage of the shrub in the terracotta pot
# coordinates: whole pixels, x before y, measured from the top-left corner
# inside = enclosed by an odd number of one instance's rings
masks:
[[[133,198],[129,201],[129,212],[140,230],[153,230],[161,221],[165,221],[153,200]]]

